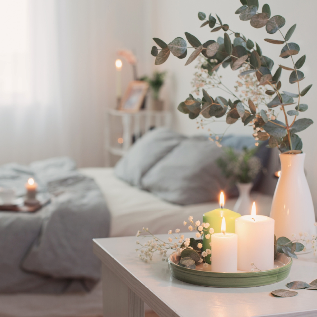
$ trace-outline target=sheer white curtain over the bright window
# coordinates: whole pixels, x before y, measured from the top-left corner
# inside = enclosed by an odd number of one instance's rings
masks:
[[[0,44],[0,164],[69,155],[104,165],[96,1],[13,2],[0,2],[16,19],[2,23],[12,38]]]

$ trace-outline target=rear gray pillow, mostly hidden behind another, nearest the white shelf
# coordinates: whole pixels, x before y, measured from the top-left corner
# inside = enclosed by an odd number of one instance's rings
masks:
[[[140,187],[143,175],[184,139],[185,136],[168,128],[147,132],[116,164],[115,175],[131,185]]]

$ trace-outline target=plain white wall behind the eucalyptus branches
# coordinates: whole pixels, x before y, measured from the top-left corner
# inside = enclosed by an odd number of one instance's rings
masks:
[[[316,42],[314,30],[317,29],[317,19],[315,12],[317,9],[317,3],[313,0],[297,1],[273,1],[267,0],[259,1],[260,7],[264,3],[268,3],[271,8],[271,16],[281,15],[286,19],[285,26],[281,29],[285,35],[287,30],[297,23],[296,30],[291,38],[290,42],[297,43],[301,50],[300,53],[294,56],[295,61],[306,54],[306,63],[301,68],[301,71],[305,74],[306,78],[300,82],[300,87],[303,89],[309,84],[313,84],[311,90],[306,96],[301,98],[301,103],[308,104],[308,110],[305,113],[301,113],[300,118],[311,118],[315,121],[315,124],[307,128],[307,130],[300,132],[299,135],[303,141],[303,151],[306,153],[305,169],[307,170],[308,183],[314,198],[315,209],[317,207],[317,166],[314,158],[316,157],[316,139],[317,133],[317,107],[315,106],[315,89],[317,88],[317,76],[316,66]],[[252,39],[253,42],[257,42],[263,52],[263,55],[267,55],[274,60],[275,65],[273,71],[277,69],[278,64],[291,67],[290,58],[282,59],[278,57],[280,55],[283,45],[270,44],[264,41],[264,38],[281,39],[279,33],[269,35],[265,28],[255,29],[250,26],[249,21],[241,21],[238,15],[234,12],[241,6],[238,0],[225,0],[225,1],[210,1],[210,0],[160,0],[159,2],[152,2],[152,15],[154,26],[152,37],[159,37],[165,42],[172,41],[175,37],[181,36],[185,39],[184,32],[187,31],[195,35],[202,43],[206,40],[217,40],[218,36],[223,36],[223,31],[216,33],[210,33],[210,28],[205,26],[200,28],[201,21],[198,20],[198,11],[203,11],[208,16],[211,12],[213,16],[217,13],[222,19],[223,23],[227,23],[230,29],[236,32],[243,33],[247,38]],[[154,41],[152,45],[155,45]],[[151,46],[152,46],[151,45]],[[150,51],[151,47],[148,47]],[[171,102],[171,108],[174,111],[175,126],[178,131],[186,134],[201,133],[201,130],[197,130],[195,120],[190,120],[187,115],[180,113],[176,110],[177,105],[187,98],[188,94],[192,91],[191,79],[194,73],[194,64],[191,63],[188,66],[184,66],[186,59],[178,59],[175,56],[170,56],[168,61],[161,66],[157,66],[160,69],[168,70],[170,76],[168,84],[165,86],[164,95],[169,98]],[[154,57],[152,58],[154,64]],[[219,74],[223,74],[225,77],[225,83],[233,86],[236,80],[236,74],[238,71],[233,72],[229,67],[219,70]],[[288,83],[288,76],[290,72],[282,71],[282,90],[296,93],[296,84]],[[219,93],[212,92],[212,96],[217,96]],[[292,106],[289,106],[292,107]],[[226,124],[220,123],[214,130],[222,133]],[[236,134],[251,134],[252,129],[246,128],[241,122],[236,122],[228,130],[228,133]]]

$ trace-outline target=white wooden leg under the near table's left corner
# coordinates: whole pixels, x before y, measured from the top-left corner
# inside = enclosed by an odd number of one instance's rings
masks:
[[[104,317],[144,317],[144,302],[104,264],[102,302]]]

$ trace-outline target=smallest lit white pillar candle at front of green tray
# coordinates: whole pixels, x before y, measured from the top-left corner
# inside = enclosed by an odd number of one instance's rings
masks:
[[[226,233],[226,221],[222,218],[221,232],[211,235],[211,271],[236,272],[238,256],[238,237]]]

